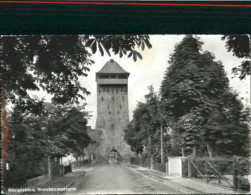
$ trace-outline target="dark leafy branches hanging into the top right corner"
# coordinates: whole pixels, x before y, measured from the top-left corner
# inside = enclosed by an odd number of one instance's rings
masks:
[[[232,52],[234,56],[242,58],[242,63],[232,69],[235,75],[239,74],[242,80],[247,75],[250,75],[250,55],[251,55],[251,35],[224,35],[222,40],[226,41],[226,48],[228,52]]]

